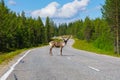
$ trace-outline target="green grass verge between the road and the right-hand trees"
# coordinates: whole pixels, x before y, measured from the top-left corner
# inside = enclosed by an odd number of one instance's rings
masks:
[[[112,51],[112,50],[105,51],[105,50],[98,49],[98,48],[94,47],[92,43],[88,43],[85,40],[79,40],[79,39],[74,39],[74,40],[75,40],[75,43],[73,44],[73,47],[76,49],[86,50],[86,51],[90,51],[90,52],[94,52],[94,53],[98,53],[98,54],[120,57],[120,55],[114,54],[114,51]]]

